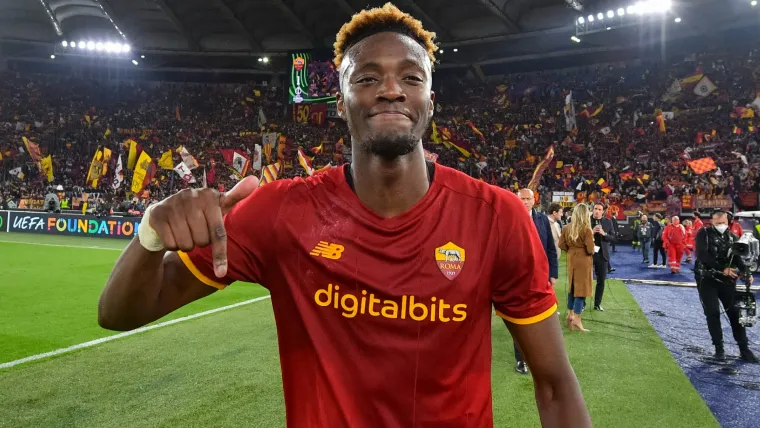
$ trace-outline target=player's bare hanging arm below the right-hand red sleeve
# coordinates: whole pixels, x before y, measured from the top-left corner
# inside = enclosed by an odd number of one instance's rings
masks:
[[[530,367],[543,428],[589,428],[591,417],[565,352],[557,316],[535,324],[504,321]]]

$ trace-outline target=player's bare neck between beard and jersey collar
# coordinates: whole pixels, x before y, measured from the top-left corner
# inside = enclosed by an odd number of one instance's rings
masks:
[[[384,218],[405,213],[430,188],[421,144],[412,153],[392,161],[354,150],[351,173],[359,200]]]

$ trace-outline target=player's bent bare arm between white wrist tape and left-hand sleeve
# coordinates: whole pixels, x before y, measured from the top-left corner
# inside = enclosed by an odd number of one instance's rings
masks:
[[[215,291],[197,279],[177,253],[151,252],[133,239],[100,296],[98,324],[109,330],[132,330]]]

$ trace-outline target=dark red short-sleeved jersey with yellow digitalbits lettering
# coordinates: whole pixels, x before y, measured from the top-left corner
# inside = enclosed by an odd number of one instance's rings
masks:
[[[287,424],[491,427],[491,316],[556,312],[541,241],[516,195],[436,165],[426,195],[383,218],[345,166],[257,189],[225,217],[228,276],[268,288]]]

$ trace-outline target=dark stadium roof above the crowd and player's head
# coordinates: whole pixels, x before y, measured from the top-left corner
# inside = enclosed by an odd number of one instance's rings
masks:
[[[384,0],[0,0],[0,55],[11,60],[44,60],[51,53],[61,53],[56,46],[63,40],[102,40],[128,43],[132,56],[145,55],[144,65],[156,69],[270,73],[287,65],[288,51],[330,49],[335,33],[353,13],[383,3]],[[608,10],[625,10],[633,0],[394,3],[438,34],[443,49],[438,69],[479,65],[485,74],[497,71],[495,65],[503,68],[504,64],[560,61],[610,52],[624,55],[642,45],[659,49],[665,39],[705,36],[757,23],[757,13],[748,13],[749,0],[673,2],[670,12],[646,22],[641,17],[607,18]],[[598,13],[605,15],[605,23],[596,20],[595,31],[579,33],[578,17]],[[683,21],[675,23],[674,17]],[[581,34],[580,43],[570,40],[576,34]],[[259,60],[263,57],[271,61],[263,63]]]

